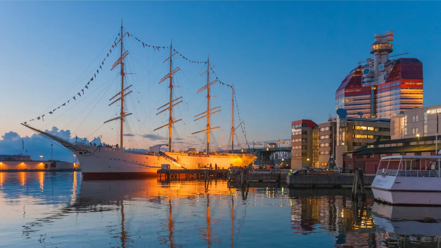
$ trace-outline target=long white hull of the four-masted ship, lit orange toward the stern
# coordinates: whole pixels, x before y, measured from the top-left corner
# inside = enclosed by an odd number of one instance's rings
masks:
[[[187,153],[166,153],[174,158],[173,162],[158,154],[135,154],[122,152],[111,147],[97,147],[84,144],[63,144],[73,151],[81,165],[81,171],[86,179],[101,178],[111,175],[112,178],[154,176],[162,164],[170,165],[170,169],[200,169],[215,165],[218,169],[230,166],[249,165],[254,156],[248,154],[203,155]]]

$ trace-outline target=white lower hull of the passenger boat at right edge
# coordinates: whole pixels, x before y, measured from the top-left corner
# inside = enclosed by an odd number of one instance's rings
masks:
[[[441,205],[441,177],[377,175],[371,185],[375,199],[403,205]]]

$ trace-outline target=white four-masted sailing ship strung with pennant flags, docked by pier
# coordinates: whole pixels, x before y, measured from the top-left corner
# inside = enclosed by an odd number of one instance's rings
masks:
[[[156,131],[161,128],[168,128],[168,143],[157,144],[149,147],[148,149],[124,148],[124,137],[126,136],[124,133],[125,131],[124,122],[127,121],[127,116],[132,115],[132,113],[128,112],[127,104],[125,104],[125,101],[127,95],[131,94],[133,90],[131,90],[132,85],[128,85],[126,80],[126,76],[130,73],[127,73],[124,67],[125,58],[128,55],[128,50],[124,49],[123,40],[126,36],[130,37],[130,35],[131,34],[129,34],[128,32],[124,32],[123,25],[121,23],[121,31],[120,34],[118,35],[119,39],[118,41],[115,40],[113,42],[114,45],[112,45],[112,48],[114,50],[116,49],[119,50],[118,52],[120,57],[116,60],[116,62],[113,64],[111,69],[111,71],[117,68],[120,69],[120,73],[119,73],[121,78],[120,87],[119,87],[120,91],[116,93],[109,100],[112,101],[109,104],[109,106],[115,103],[118,103],[120,105],[120,113],[115,118],[111,118],[104,122],[104,123],[108,123],[112,121],[119,122],[119,126],[120,126],[119,144],[116,144],[115,146],[101,145],[101,140],[99,145],[92,144],[91,142],[90,143],[73,142],[72,140],[61,138],[49,132],[42,131],[38,128],[32,127],[28,122],[23,122],[22,125],[26,126],[27,128],[30,128],[31,130],[33,130],[38,134],[41,134],[46,139],[50,139],[60,143],[63,147],[73,152],[76,158],[78,159],[78,162],[81,164],[81,171],[84,179],[153,176],[153,175],[157,175],[157,170],[161,169],[161,165],[170,165],[170,169],[211,169],[211,168],[227,169],[230,167],[250,165],[250,163],[252,163],[254,159],[257,158],[256,156],[254,156],[253,154],[233,153],[234,135],[235,135],[235,130],[238,128],[238,127],[235,128],[234,125],[234,86],[231,86],[232,89],[231,153],[218,152],[212,147],[213,144],[210,143],[210,132],[214,129],[220,128],[219,126],[217,127],[212,126],[212,121],[210,120],[210,116],[220,112],[221,110],[219,109],[220,106],[212,107],[210,105],[210,98],[213,97],[212,95],[210,95],[210,86],[213,86],[215,83],[218,83],[218,80],[216,79],[210,81],[210,71],[213,69],[214,66],[210,66],[209,59],[207,59],[206,62],[205,61],[201,62],[207,65],[206,71],[204,71],[201,74],[201,76],[206,76],[206,84],[197,91],[197,94],[203,93],[204,91],[206,92],[206,101],[207,101],[206,111],[195,116],[196,118],[195,121],[202,119],[206,120],[205,129],[192,133],[192,135],[198,133],[206,133],[206,143],[204,144],[206,148],[204,147],[204,150],[201,151],[197,151],[195,149],[188,149],[187,151],[173,150],[172,129],[174,128],[174,124],[182,120],[182,119],[176,120],[174,116],[174,107],[179,103],[183,102],[183,100],[182,97],[175,98],[173,94],[174,93],[173,90],[176,87],[173,83],[173,77],[174,74],[180,69],[179,67],[173,68],[173,64],[172,64],[173,56],[175,56],[178,52],[175,52],[176,50],[173,49],[172,43],[170,44],[169,47],[170,50],[169,57],[163,62],[163,63],[169,62],[168,73],[159,81],[159,84],[161,83],[168,84],[169,101],[157,109],[159,111],[157,115],[164,112],[168,113],[168,120],[166,124],[153,130]],[[140,41],[139,39],[137,40]],[[145,46],[146,44],[142,42],[142,45]],[[160,48],[161,47],[156,47],[156,49],[160,49]],[[104,61],[102,64],[104,64]],[[98,70],[97,73],[99,73]],[[92,80],[93,78],[91,79],[91,81]],[[88,88],[87,85],[86,88]],[[78,95],[81,96],[81,93],[78,93]],[[52,114],[52,112],[49,113]],[[40,120],[40,118],[42,119],[43,116],[37,117],[37,119]],[[239,126],[241,124],[239,124]],[[161,150],[161,147],[167,147],[167,150]],[[213,151],[211,151],[210,149]]]

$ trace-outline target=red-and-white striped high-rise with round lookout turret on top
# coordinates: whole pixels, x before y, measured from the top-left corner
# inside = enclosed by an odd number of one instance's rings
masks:
[[[374,58],[366,59],[343,79],[336,90],[335,109],[346,109],[348,117],[390,118],[422,107],[422,62],[389,59],[393,57],[389,56],[393,51],[389,41],[393,41],[393,31],[375,34],[370,46]]]

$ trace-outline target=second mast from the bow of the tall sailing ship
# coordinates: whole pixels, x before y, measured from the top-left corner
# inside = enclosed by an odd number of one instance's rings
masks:
[[[176,53],[178,53],[178,52],[176,52]],[[158,129],[161,129],[161,128],[164,128],[164,127],[167,127],[167,126],[168,126],[168,151],[169,151],[169,152],[172,151],[172,128],[173,128],[173,124],[175,124],[176,122],[182,120],[182,119],[179,119],[179,120],[176,120],[176,121],[175,121],[174,118],[173,118],[173,107],[176,106],[176,105],[178,105],[179,103],[182,102],[182,101],[179,101],[179,102],[173,104],[174,101],[179,100],[179,99],[182,98],[182,97],[179,97],[179,98],[176,98],[176,99],[173,100],[173,87],[174,87],[174,86],[173,86],[173,76],[172,76],[172,75],[175,74],[177,71],[180,70],[179,67],[178,67],[178,68],[175,68],[174,70],[172,70],[172,57],[173,57],[173,55],[175,55],[176,53],[173,53],[173,54],[172,54],[172,41],[170,41],[170,56],[169,56],[166,60],[164,60],[164,62],[162,62],[162,63],[165,63],[167,60],[170,59],[170,67],[169,67],[169,71],[168,71],[168,74],[165,75],[165,76],[161,79],[161,81],[159,82],[159,83],[162,83],[162,82],[164,82],[166,79],[169,79],[169,85],[168,85],[168,88],[170,88],[170,101],[169,101],[168,103],[162,105],[161,107],[159,107],[157,110],[159,110],[159,109],[161,109],[161,108],[163,108],[163,107],[165,107],[165,106],[168,105],[167,108],[161,110],[159,113],[156,114],[156,115],[158,115],[158,114],[160,114],[160,113],[162,113],[162,112],[168,110],[168,111],[169,111],[168,123],[165,124],[165,125],[163,125],[163,126],[161,126],[161,127],[159,127],[159,128],[156,128],[156,129],[153,130],[153,131],[156,131],[156,130],[158,130]]]

